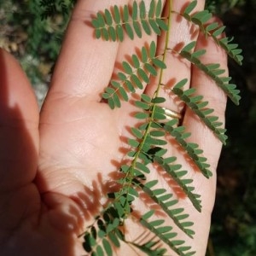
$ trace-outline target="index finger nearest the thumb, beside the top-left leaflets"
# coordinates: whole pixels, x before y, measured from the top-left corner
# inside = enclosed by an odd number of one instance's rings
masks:
[[[100,100],[100,93],[111,78],[119,43],[96,39],[90,23],[96,12],[126,2],[78,1],[56,63],[49,96],[57,93]]]

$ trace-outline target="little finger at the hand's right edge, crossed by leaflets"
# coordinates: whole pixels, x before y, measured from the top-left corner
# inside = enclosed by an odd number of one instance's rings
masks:
[[[228,75],[227,56],[223,49],[220,49],[211,38],[205,39],[203,35],[196,44],[196,49],[206,49],[207,54],[201,57],[201,61],[205,64],[218,63],[220,68],[226,72],[223,76]],[[224,111],[226,108],[226,96],[217,84],[207,74],[203,73],[197,67],[193,67],[193,79],[191,87],[196,89],[196,94],[204,96],[204,101],[209,102],[207,108],[213,108],[213,115],[218,116],[218,120],[224,123]],[[183,124],[189,127],[192,133],[191,140],[198,143],[204,150],[204,154],[214,171],[218,164],[219,154],[222,143],[214,136],[213,132],[207,128],[200,119],[188,109],[186,111]]]

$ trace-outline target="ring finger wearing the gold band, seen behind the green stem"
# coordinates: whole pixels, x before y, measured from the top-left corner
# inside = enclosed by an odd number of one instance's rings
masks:
[[[189,61],[181,58],[177,52],[191,41],[196,41],[198,29],[192,25],[191,22],[182,18],[181,15],[177,15],[187,6],[188,1],[175,0],[172,1],[172,6],[169,6],[169,1],[166,3],[165,15],[169,14],[170,8],[174,12],[171,14],[169,35],[166,33],[159,38],[157,51],[157,55],[163,55],[165,48],[170,49],[167,50],[165,56],[166,69],[163,71],[161,80],[160,77],[157,77],[151,84],[148,84],[146,93],[152,96],[160,81],[160,84],[164,84],[164,86],[161,88],[159,96],[166,98],[166,102],[163,104],[163,107],[180,113],[183,109],[183,104],[177,104],[177,97],[172,94],[170,88],[182,79],[188,79],[188,83],[185,85],[185,88],[189,87],[191,64]],[[204,8],[204,3],[204,0],[198,1],[195,12],[202,10]]]

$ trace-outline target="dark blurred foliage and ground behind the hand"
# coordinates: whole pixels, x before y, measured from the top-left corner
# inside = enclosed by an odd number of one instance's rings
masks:
[[[84,0],[85,1],[85,0]],[[0,1],[0,47],[15,55],[41,106],[74,0]],[[227,107],[229,141],[218,166],[218,189],[208,256],[256,255],[256,1],[207,1],[227,26],[245,60],[230,61],[241,105]],[[86,42],[84,42],[86,47]]]

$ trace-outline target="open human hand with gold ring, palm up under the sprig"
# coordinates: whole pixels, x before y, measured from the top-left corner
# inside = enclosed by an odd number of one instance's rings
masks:
[[[127,1],[112,1],[125,4]],[[150,1],[146,0],[146,3]],[[174,0],[177,11],[187,3]],[[78,236],[101,208],[102,195],[113,185],[111,175],[124,158],[127,127],[136,124],[131,116],[131,102],[111,110],[101,102],[101,92],[119,70],[120,61],[131,55],[154,36],[143,36],[122,44],[93,38],[88,21],[98,10],[108,8],[108,1],[80,0],[73,11],[61,55],[55,67],[49,93],[41,113],[32,87],[19,64],[7,52],[0,51],[0,254],[7,255],[84,255]],[[203,9],[198,1],[197,9]],[[173,17],[170,47],[195,40],[186,21]],[[193,38],[194,37],[194,38]],[[158,50],[165,38],[159,38]],[[226,68],[226,56],[199,36],[197,46],[207,55],[202,61],[218,62]],[[167,55],[168,68],[164,82],[189,79],[187,87],[196,87],[224,121],[226,98],[211,79],[190,68],[187,61]],[[155,84],[148,84],[151,95]],[[166,91],[161,91],[166,95]],[[167,96],[165,107],[182,111]],[[221,143],[189,110],[183,112],[188,127],[211,164],[213,177],[207,180],[193,171],[183,154],[170,144],[169,150],[183,163],[195,179],[196,193],[202,195],[202,212],[196,212],[189,201],[182,202],[195,223],[195,239],[189,241],[196,255],[204,255],[215,196],[216,166]],[[152,173],[154,170],[152,170]],[[155,172],[154,172],[155,173]],[[152,174],[155,178],[155,174]],[[163,186],[172,191],[161,179]],[[144,206],[137,205],[140,210]],[[132,236],[142,230],[134,229]],[[198,239],[200,237],[200,239]],[[181,239],[188,238],[183,237]],[[124,253],[125,252],[125,253]],[[119,251],[118,255],[134,255]],[[127,254],[128,253],[128,254]]]

